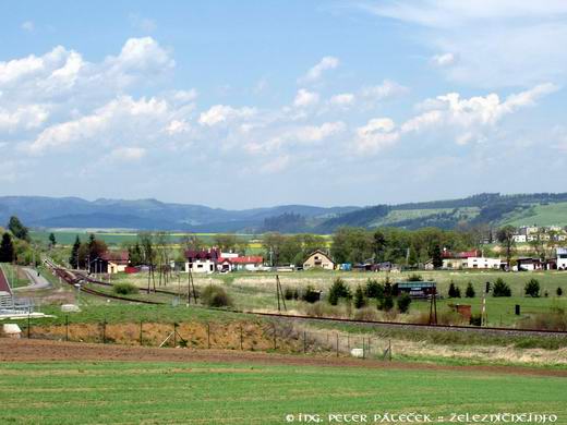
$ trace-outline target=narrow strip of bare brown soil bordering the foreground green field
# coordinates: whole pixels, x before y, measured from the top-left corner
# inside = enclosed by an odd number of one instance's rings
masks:
[[[350,357],[285,355],[229,350],[156,349],[97,343],[14,340],[0,338],[0,362],[125,361],[213,362],[265,365],[367,367],[417,371],[462,371],[515,375],[567,377],[567,371],[516,366],[445,366],[425,363],[378,362]]]

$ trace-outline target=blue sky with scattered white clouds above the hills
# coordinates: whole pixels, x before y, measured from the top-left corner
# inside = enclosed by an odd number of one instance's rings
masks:
[[[567,2],[0,4],[0,194],[565,191]]]

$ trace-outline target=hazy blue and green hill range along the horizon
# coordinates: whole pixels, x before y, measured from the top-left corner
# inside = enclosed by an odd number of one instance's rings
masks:
[[[460,199],[375,205],[316,207],[282,205],[229,210],[156,199],[0,196],[0,224],[19,216],[34,228],[179,230],[193,232],[280,231],[329,233],[341,226],[418,229],[461,226],[567,226],[567,193],[500,195],[485,193]]]

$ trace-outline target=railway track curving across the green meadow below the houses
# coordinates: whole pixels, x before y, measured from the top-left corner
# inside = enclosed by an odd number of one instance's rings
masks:
[[[94,284],[100,284],[106,287],[112,287],[112,283],[102,282],[100,280],[95,280],[88,277],[85,274],[81,272],[72,272],[63,267],[59,267],[51,260],[46,260],[46,264],[49,268],[51,268],[56,275],[61,277],[67,283],[75,286],[76,283],[87,281]],[[168,303],[158,302],[158,301],[149,301],[149,300],[135,300],[120,295],[112,295],[106,292],[97,291],[92,288],[82,287],[81,290],[83,292],[89,293],[92,295],[104,296],[112,300],[120,301],[129,301],[133,303],[141,304],[153,304],[153,305],[168,305]],[[167,290],[156,289],[157,293],[164,293],[169,295],[179,296],[179,292],[172,292]],[[195,306],[195,305],[193,305]],[[202,307],[200,308],[207,308]],[[313,317],[313,316],[304,316],[304,315],[291,315],[284,313],[260,313],[260,312],[250,312],[242,309],[232,309],[233,313],[253,315],[253,316],[262,316],[262,317],[274,317],[279,319],[293,319],[293,320],[316,320],[316,321],[327,321],[327,323],[345,323],[345,324],[358,324],[365,326],[376,326],[383,328],[391,328],[391,329],[420,329],[420,330],[435,330],[435,331],[469,331],[469,332],[481,332],[481,333],[495,333],[495,335],[534,335],[534,336],[548,336],[548,337],[559,337],[567,338],[567,331],[564,330],[541,330],[541,329],[518,329],[518,328],[504,328],[504,327],[476,327],[476,326],[463,326],[463,325],[429,325],[429,324],[408,324],[401,321],[381,321],[381,320],[361,320],[361,319],[349,319],[349,318],[338,318],[338,317]]]

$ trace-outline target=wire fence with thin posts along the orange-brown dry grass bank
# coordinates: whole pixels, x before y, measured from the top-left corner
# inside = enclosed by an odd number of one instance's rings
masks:
[[[372,333],[313,330],[295,323],[190,321],[190,323],[63,323],[44,325],[27,319],[22,338],[70,342],[143,345],[161,348],[266,351],[295,354],[354,356],[391,360],[391,341]]]

